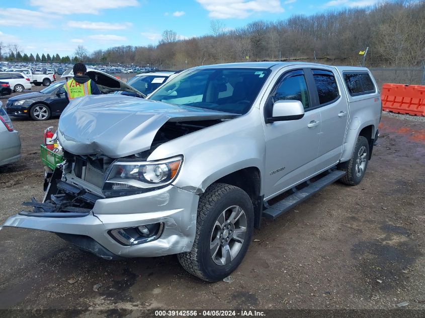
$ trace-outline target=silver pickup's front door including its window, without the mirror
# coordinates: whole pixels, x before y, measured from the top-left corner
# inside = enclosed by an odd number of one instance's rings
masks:
[[[300,100],[305,114],[299,120],[265,125],[266,199],[314,174],[319,147],[320,110],[309,110],[311,99],[302,69],[291,70],[281,76],[266,101],[265,117],[271,115],[273,103],[281,99]]]

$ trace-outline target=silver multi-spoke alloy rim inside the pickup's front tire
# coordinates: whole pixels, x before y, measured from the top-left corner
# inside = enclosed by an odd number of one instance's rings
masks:
[[[217,218],[211,233],[210,255],[217,265],[229,264],[242,248],[246,215],[238,205],[229,206]]]

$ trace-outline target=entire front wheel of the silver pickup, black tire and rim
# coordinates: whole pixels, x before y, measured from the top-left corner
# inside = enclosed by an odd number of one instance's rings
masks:
[[[248,250],[254,210],[248,194],[224,183],[214,183],[199,199],[192,250],[178,254],[189,273],[206,281],[231,274]]]

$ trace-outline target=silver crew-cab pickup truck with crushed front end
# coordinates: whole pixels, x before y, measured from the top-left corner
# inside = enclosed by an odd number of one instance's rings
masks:
[[[367,68],[298,62],[199,66],[146,99],[75,99],[44,200],[4,226],[54,232],[105,259],[177,254],[217,281],[263,217],[336,180],[361,182],[380,118]]]

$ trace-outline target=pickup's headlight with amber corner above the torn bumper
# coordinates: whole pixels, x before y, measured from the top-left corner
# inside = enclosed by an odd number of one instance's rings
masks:
[[[179,174],[183,156],[159,161],[116,161],[107,171],[106,196],[137,194],[163,187]]]

